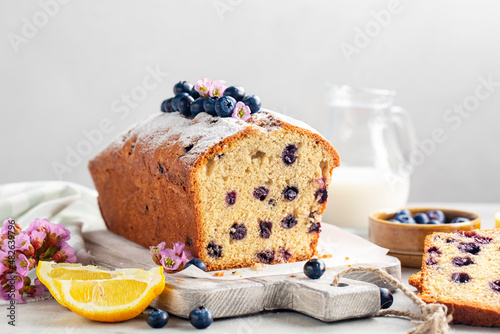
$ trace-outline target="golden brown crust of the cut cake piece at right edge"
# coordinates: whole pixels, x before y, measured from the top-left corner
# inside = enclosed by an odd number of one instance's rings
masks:
[[[465,232],[468,233],[468,232]],[[487,235],[498,237],[500,236],[500,229],[492,230],[474,230],[472,233],[477,233],[479,235]],[[457,233],[433,233],[425,239],[424,246],[424,256],[422,259],[422,271],[412,275],[409,279],[409,284],[415,286],[419,291],[419,297],[426,303],[441,303],[448,307],[448,312],[453,316],[453,321],[455,323],[461,323],[472,326],[500,326],[500,293],[498,293],[496,306],[486,305],[480,300],[473,301],[461,301],[455,297],[458,296],[442,296],[436,295],[432,290],[431,283],[434,284],[435,281],[435,271],[433,271],[433,265],[428,264],[428,260],[432,258],[432,252],[429,252],[429,248],[436,247],[435,238],[458,238],[460,237],[460,232]],[[500,251],[500,249],[499,249]],[[444,254],[444,251],[443,251]],[[499,259],[498,255],[497,261]],[[442,265],[439,263],[438,265]],[[496,264],[498,265],[498,264]],[[460,268],[453,267],[454,271],[460,271]],[[455,284],[455,283],[452,283]],[[475,292],[470,292],[475,293]]]

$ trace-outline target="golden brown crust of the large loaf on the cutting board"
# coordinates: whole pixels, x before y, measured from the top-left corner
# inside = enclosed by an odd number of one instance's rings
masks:
[[[203,117],[203,120],[189,122],[214,123],[218,119],[208,114]],[[140,132],[138,134],[135,129],[130,130],[89,163],[106,226],[144,247],[162,241],[166,241],[167,245],[182,241],[193,256],[203,260],[201,227],[197,220],[201,215],[200,198],[194,175],[209,159],[223,153],[227,147],[249,134],[281,128],[309,136],[328,151],[333,160],[330,174],[339,165],[337,152],[321,135],[303,128],[302,124],[292,125],[283,119],[287,118],[268,111],[259,112],[254,114],[248,124],[237,121],[234,129],[221,131],[223,138],[220,140],[215,138],[197,145],[204,138],[202,133],[195,133],[192,144],[188,146],[178,140],[182,134],[168,128],[162,129],[165,137],[161,139],[152,137],[157,136],[157,130],[151,131],[149,137]],[[222,121],[226,120],[218,120]],[[234,122],[233,119],[229,121]],[[149,141],[156,141],[153,148]],[[321,206],[319,213],[324,211],[325,206],[326,203]],[[292,255],[289,261],[306,260],[313,256],[318,238],[319,233],[312,239],[308,256]],[[235,262],[229,266],[212,264],[208,270],[247,267],[253,263]]]

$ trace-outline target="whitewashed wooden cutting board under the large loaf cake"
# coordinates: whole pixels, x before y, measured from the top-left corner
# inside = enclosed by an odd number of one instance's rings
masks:
[[[84,239],[98,265],[144,269],[155,266],[148,249],[110,231],[84,233]],[[377,263],[361,265],[384,268],[397,279],[401,278],[400,262],[391,256]],[[214,318],[266,310],[294,310],[319,320],[338,321],[377,313],[380,309],[378,287],[391,290],[392,287],[378,276],[368,273],[352,273],[342,278],[339,286],[331,286],[332,277],[344,268],[328,268],[323,277],[317,280],[309,279],[303,273],[237,280],[179,279],[166,275],[165,290],[153,306],[183,318],[202,305],[212,311]]]

